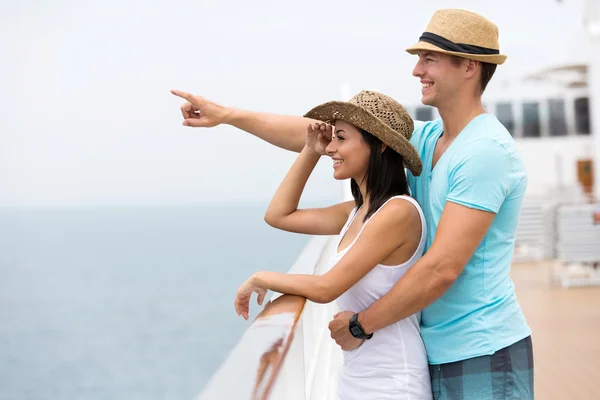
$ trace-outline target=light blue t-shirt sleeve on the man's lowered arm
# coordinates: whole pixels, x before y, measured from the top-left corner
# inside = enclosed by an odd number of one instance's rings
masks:
[[[469,143],[452,163],[448,201],[497,213],[519,179],[515,158],[492,139]]]

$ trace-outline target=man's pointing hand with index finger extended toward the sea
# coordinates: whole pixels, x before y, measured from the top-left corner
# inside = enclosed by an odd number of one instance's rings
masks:
[[[171,90],[175,96],[187,100],[181,106],[183,115],[183,125],[195,128],[212,128],[225,122],[231,110],[220,104],[213,103],[201,96],[182,92],[180,90]]]

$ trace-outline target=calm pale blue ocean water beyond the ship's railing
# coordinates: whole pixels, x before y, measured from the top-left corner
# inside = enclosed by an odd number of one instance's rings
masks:
[[[238,286],[308,243],[265,209],[0,211],[0,399],[193,398],[249,324]]]

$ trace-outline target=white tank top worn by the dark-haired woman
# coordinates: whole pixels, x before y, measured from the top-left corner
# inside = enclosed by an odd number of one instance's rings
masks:
[[[360,237],[364,227],[392,199],[412,203],[421,219],[421,239],[413,256],[403,264],[376,265],[360,281],[337,300],[341,311],[359,312],[386,294],[408,269],[423,255],[427,226],[423,210],[409,196],[388,199],[364,222],[356,238],[342,251],[333,255],[333,267]],[[355,208],[342,228],[340,241],[354,220]],[[417,234],[415,232],[415,234]],[[338,398],[351,399],[431,399],[431,381],[425,346],[419,329],[420,312],[374,332],[373,337],[351,351],[344,351],[344,367],[340,376]]]

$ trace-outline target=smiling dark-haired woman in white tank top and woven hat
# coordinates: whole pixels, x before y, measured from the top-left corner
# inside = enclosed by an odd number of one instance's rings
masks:
[[[306,146],[275,193],[265,220],[291,232],[339,234],[337,251],[321,276],[252,275],[235,300],[236,312],[246,319],[252,293],[262,304],[269,289],[317,303],[336,300],[340,309],[358,313],[387,293],[423,254],[425,218],[408,196],[404,173],[406,167],[419,175],[422,165],[409,143],[413,122],[404,108],[388,96],[363,91],[349,102],[325,103],[305,116],[334,123],[335,132],[325,123],[308,127]],[[351,179],[354,201],[298,210],[308,177],[325,154],[333,160],[335,179]],[[417,313],[373,334],[357,333],[363,343],[344,352],[339,398],[431,398],[419,319]]]

